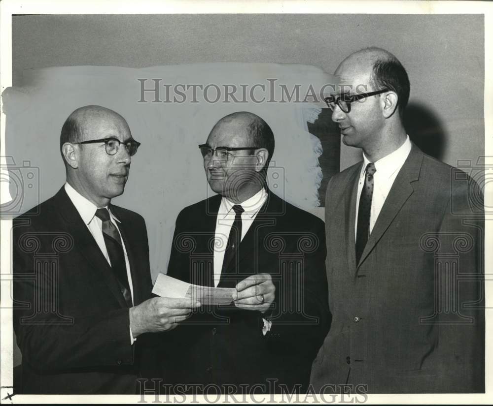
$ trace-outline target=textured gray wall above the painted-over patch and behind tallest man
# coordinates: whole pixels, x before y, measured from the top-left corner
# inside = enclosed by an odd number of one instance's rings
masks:
[[[481,14],[14,16],[12,44],[14,85],[23,69],[71,65],[283,62],[332,73],[351,52],[380,46],[406,67],[409,125],[439,143],[436,155],[449,164],[484,155]],[[343,147],[341,169],[358,158]]]

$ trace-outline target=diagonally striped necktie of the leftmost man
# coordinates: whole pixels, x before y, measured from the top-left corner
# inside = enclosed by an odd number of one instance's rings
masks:
[[[128,283],[127,266],[125,264],[125,254],[121,244],[120,233],[116,226],[109,219],[109,212],[105,209],[96,210],[96,216],[103,221],[103,237],[105,238],[106,250],[108,251],[111,269],[120,285],[125,302],[132,307],[132,295]]]

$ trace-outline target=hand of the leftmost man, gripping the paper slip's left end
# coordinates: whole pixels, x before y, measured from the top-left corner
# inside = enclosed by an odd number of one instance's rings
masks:
[[[201,304],[190,299],[153,297],[130,308],[130,328],[134,338],[142,333],[155,333],[176,328],[190,317],[191,309]]]

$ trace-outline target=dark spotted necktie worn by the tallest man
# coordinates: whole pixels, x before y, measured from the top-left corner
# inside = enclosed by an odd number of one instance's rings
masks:
[[[358,222],[356,228],[356,264],[359,263],[361,254],[368,242],[370,235],[371,200],[373,197],[373,175],[377,172],[375,164],[366,165],[365,183],[361,189],[358,207]]]

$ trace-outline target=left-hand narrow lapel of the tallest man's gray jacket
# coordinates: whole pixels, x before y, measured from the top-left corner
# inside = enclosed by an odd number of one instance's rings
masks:
[[[362,165],[362,164],[361,164]],[[356,240],[354,238],[354,227],[356,224],[356,200],[358,193],[358,180],[361,173],[361,165],[358,165],[351,174],[348,185],[344,192],[344,226],[346,230],[346,254],[349,269],[356,269]]]

